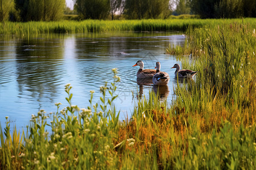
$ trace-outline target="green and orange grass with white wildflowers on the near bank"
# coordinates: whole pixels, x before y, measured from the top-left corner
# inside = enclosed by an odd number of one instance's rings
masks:
[[[101,102],[92,103],[91,91],[86,109],[72,105],[67,84],[69,105],[32,116],[27,133],[14,130],[11,137],[6,118],[0,168],[256,169],[255,22],[210,21],[188,27],[185,46],[167,47],[184,68],[199,71],[177,83],[172,103],[151,92],[130,120],[119,121],[115,69],[113,82],[100,87]]]

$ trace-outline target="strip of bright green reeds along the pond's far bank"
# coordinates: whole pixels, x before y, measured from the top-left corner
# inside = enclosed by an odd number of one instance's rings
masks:
[[[244,19],[250,23],[253,19]],[[203,25],[216,25],[224,22],[217,19],[147,19],[147,20],[83,20],[60,22],[27,22],[0,24],[2,35],[37,35],[40,33],[86,33],[106,31],[186,31]],[[226,23],[241,23],[242,19],[225,20]],[[254,22],[255,23],[255,22]]]

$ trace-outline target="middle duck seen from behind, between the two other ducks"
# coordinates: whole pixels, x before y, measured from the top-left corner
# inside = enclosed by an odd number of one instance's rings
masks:
[[[170,76],[168,73],[160,71],[160,62],[156,62],[156,74],[152,78],[152,82],[156,86],[166,86],[170,81]]]

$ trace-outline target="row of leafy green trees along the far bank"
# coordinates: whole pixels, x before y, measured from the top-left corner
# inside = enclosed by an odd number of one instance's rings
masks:
[[[200,18],[256,17],[255,0],[73,0],[79,19],[165,19],[180,14]],[[0,21],[63,18],[65,0],[0,0]]]

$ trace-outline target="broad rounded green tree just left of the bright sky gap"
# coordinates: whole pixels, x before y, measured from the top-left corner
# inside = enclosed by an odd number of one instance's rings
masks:
[[[65,0],[14,0],[14,3],[24,22],[59,20],[65,8]]]

